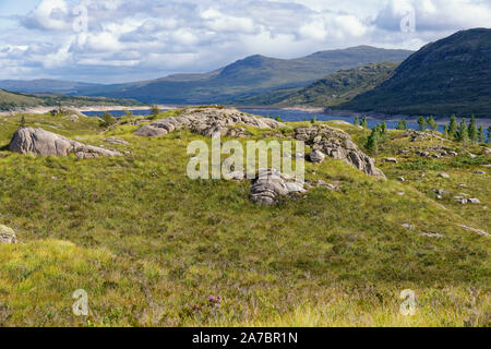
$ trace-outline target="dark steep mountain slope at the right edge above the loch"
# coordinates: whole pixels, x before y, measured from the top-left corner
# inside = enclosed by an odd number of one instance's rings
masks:
[[[491,29],[458,32],[429,44],[394,76],[342,109],[386,113],[491,116]]]

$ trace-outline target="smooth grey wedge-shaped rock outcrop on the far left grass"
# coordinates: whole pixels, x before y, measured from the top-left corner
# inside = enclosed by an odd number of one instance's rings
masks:
[[[99,156],[121,156],[119,152],[85,145],[44,129],[21,128],[15,131],[9,151],[20,154],[41,156],[68,156],[75,154],[79,158]]]

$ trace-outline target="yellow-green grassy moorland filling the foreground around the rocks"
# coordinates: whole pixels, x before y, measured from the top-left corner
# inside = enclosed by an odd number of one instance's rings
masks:
[[[0,325],[490,325],[490,240],[459,227],[491,230],[490,177],[475,173],[489,157],[385,164],[408,146],[440,144],[391,131],[378,156],[388,181],[330,158],[307,164],[307,179],[339,191],[259,207],[248,182],[188,179],[189,142],[211,142],[188,131],[143,139],[132,125],[101,134],[91,118],[25,116],[27,125],[87,144],[129,142],[106,144],[125,152],[120,158],[36,157],[4,148],[20,118],[0,120],[0,224],[22,242],[0,245]],[[330,124],[366,143],[369,131]],[[250,131],[240,142],[271,133]],[[434,188],[482,204],[438,202]],[[76,289],[88,293],[86,317],[72,313]],[[399,313],[405,289],[417,294],[415,316]]]

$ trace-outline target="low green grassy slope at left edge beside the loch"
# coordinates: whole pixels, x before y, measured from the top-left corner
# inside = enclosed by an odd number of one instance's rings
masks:
[[[40,96],[12,93],[0,89],[0,110],[15,110],[33,107],[88,107],[88,106],[139,106],[142,103],[106,97]]]

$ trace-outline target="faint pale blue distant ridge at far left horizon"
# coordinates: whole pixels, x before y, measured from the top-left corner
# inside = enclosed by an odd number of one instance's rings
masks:
[[[21,93],[49,93],[49,94],[80,94],[86,88],[94,88],[98,84],[77,83],[58,80],[1,80],[0,88]]]

